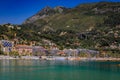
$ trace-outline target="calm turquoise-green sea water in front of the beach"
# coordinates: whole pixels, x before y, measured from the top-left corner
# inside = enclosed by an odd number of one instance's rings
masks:
[[[0,80],[120,80],[120,62],[0,60]]]

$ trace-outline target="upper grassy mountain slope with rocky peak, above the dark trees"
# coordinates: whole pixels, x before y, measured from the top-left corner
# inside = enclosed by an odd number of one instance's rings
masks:
[[[28,18],[24,24],[37,26],[42,31],[46,28],[86,31],[95,27],[97,23],[102,24],[112,13],[120,13],[119,2],[81,4],[71,9],[46,7]]]

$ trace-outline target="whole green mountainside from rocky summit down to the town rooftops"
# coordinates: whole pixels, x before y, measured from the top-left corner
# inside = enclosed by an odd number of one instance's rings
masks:
[[[60,49],[89,48],[118,52],[120,2],[81,4],[74,8],[46,7],[20,27],[21,30],[15,32],[22,40],[40,42],[47,39]]]

